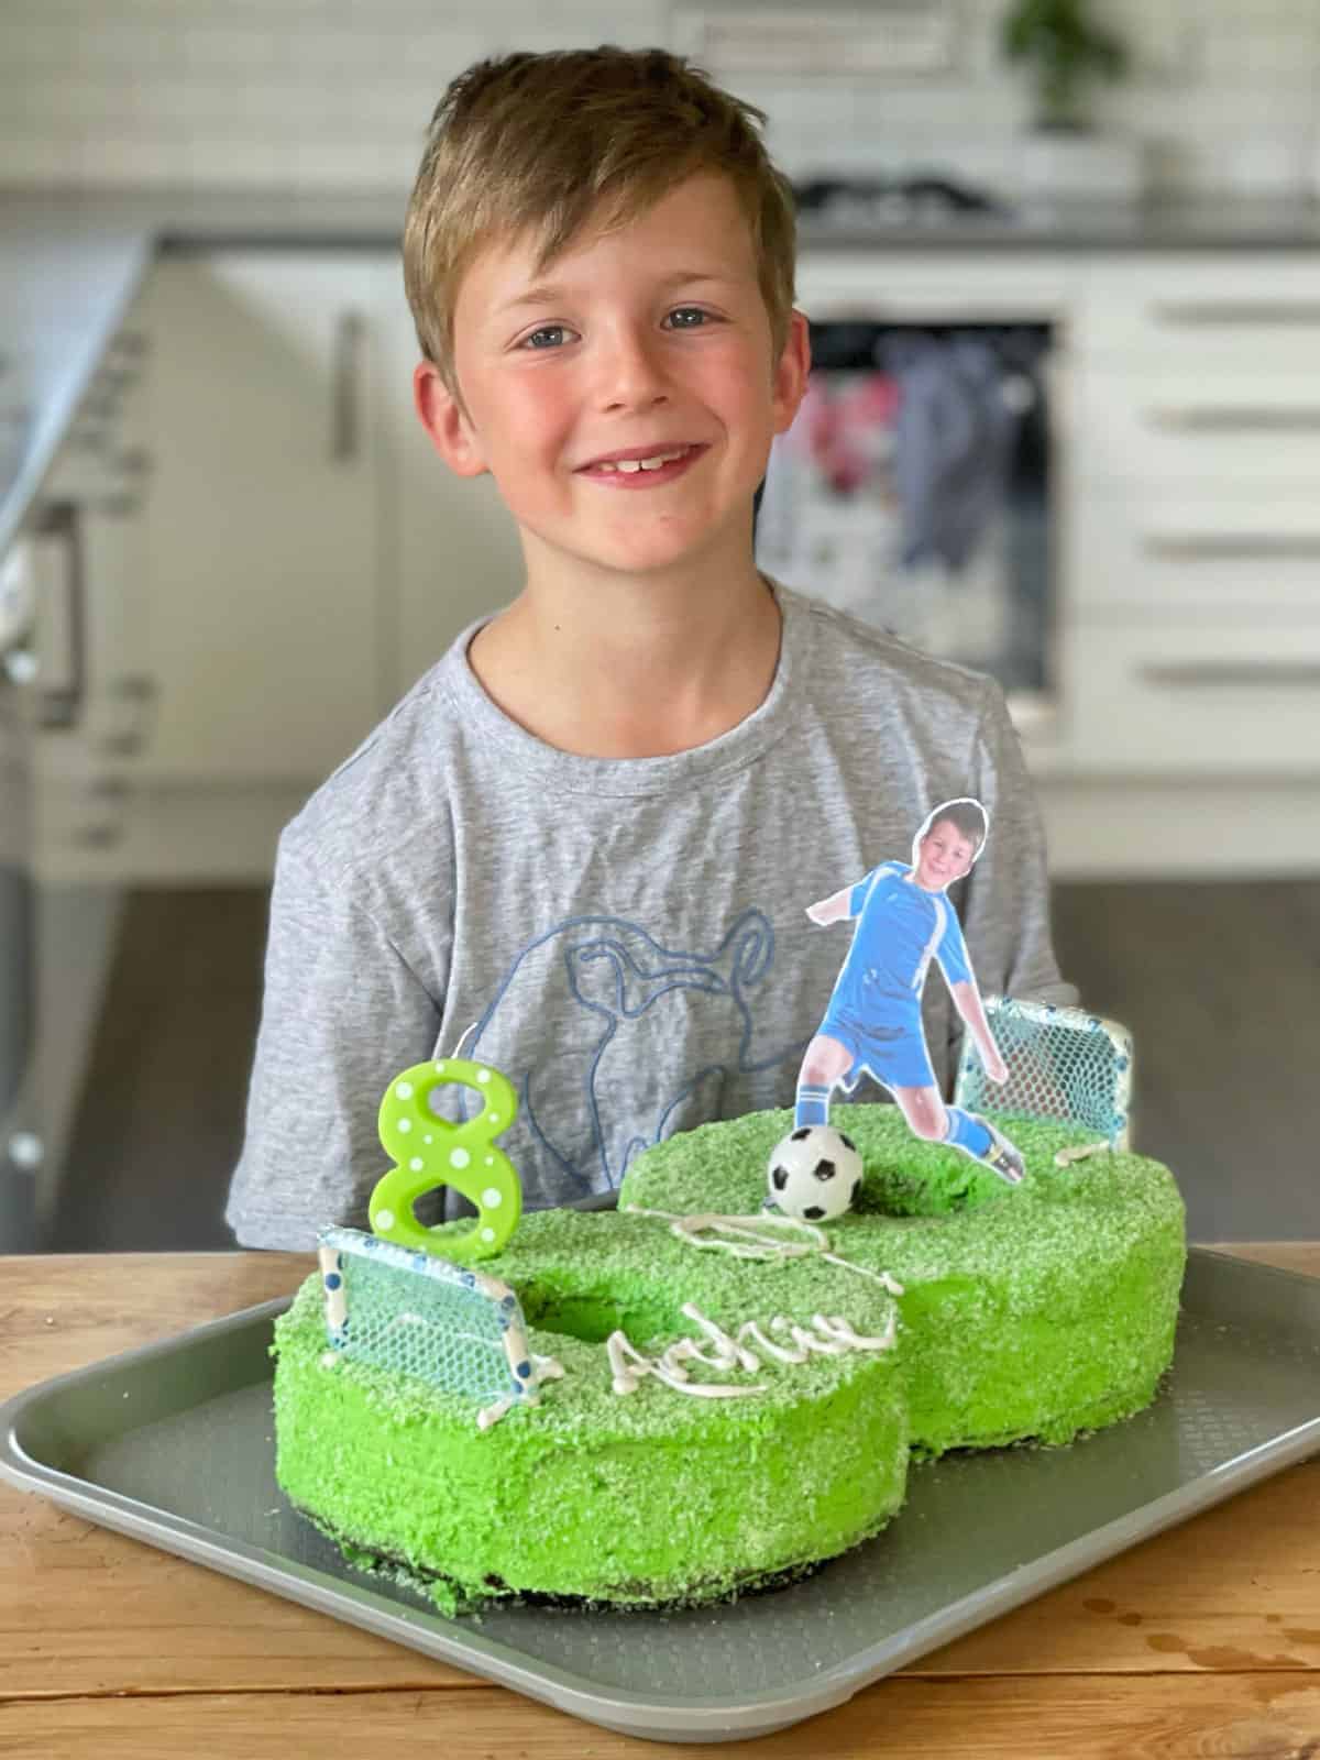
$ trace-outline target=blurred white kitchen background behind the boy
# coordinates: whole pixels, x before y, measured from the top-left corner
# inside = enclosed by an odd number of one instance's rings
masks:
[[[1128,70],[1077,136],[1033,127],[1007,11],[7,0],[0,648],[35,734],[0,869],[35,885],[0,889],[0,1250],[231,1244],[278,825],[516,584],[407,408],[422,130],[473,58],[598,40],[690,49],[803,188],[864,463],[776,459],[767,565],[910,588],[891,350],[993,356],[1003,517],[972,570],[928,533],[915,634],[1003,672],[1030,583],[1005,683],[1137,1146],[1197,1239],[1320,1236],[1320,9],[1096,4]]]

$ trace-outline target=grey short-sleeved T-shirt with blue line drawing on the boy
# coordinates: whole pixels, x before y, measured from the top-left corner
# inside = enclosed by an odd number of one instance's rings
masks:
[[[227,1211],[245,1246],[306,1250],[327,1223],[363,1227],[391,1165],[385,1086],[465,1033],[463,1056],[517,1088],[500,1146],[528,1207],[616,1186],[678,1130],[790,1105],[850,935],[806,906],[906,861],[956,796],[991,815],[950,889],[982,993],[1074,1000],[998,685],[776,597],[771,690],[704,746],[584,759],[544,744],[477,683],[473,625],[308,801],[271,898]],[[961,1023],[942,979],[922,1014],[947,1086]],[[466,1116],[468,1089],[440,1095]]]

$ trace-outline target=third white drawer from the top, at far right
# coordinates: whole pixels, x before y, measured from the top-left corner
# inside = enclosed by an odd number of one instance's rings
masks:
[[[1081,611],[1320,614],[1320,495],[1111,484],[1074,496],[1061,546],[1068,604]]]

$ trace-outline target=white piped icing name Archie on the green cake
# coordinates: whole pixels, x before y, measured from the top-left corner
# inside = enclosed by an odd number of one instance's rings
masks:
[[[889,1350],[898,1334],[896,1309],[891,1309],[885,1331],[878,1338],[857,1332],[841,1315],[811,1315],[810,1325],[799,1325],[776,1315],[769,1322],[769,1332],[787,1334],[787,1343],[769,1338],[759,1320],[744,1320],[736,1334],[729,1334],[715,1320],[708,1320],[693,1302],[685,1302],[683,1313],[700,1327],[704,1338],[700,1341],[681,1338],[660,1357],[646,1357],[628,1343],[625,1332],[611,1332],[605,1350],[609,1352],[611,1385],[616,1394],[635,1394],[644,1376],[653,1375],[678,1394],[695,1394],[700,1399],[741,1399],[748,1394],[764,1394],[766,1383],[753,1382],[752,1387],[732,1387],[727,1382],[693,1382],[686,1364],[700,1362],[723,1373],[743,1369],[755,1375],[760,1369],[757,1352],[774,1362],[801,1364],[813,1355],[841,1357],[850,1350]],[[702,1345],[708,1345],[709,1350],[704,1350]]]

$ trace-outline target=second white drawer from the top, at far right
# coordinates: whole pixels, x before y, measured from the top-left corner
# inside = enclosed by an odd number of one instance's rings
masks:
[[[1118,373],[1079,368],[1061,414],[1079,484],[1179,484],[1220,496],[1244,480],[1320,488],[1320,371]]]

